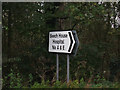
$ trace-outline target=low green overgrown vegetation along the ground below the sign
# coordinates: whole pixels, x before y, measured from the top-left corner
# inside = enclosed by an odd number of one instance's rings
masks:
[[[33,82],[33,76],[32,74],[29,74],[29,80],[27,84],[24,84],[23,78],[19,73],[13,72],[11,70],[11,73],[8,74],[8,76],[5,76],[5,79],[3,80],[4,88],[118,88],[120,86],[119,82],[110,82],[106,81],[104,78],[100,78],[99,75],[97,75],[97,79],[94,79],[94,82],[85,82],[84,78],[81,78],[81,80],[74,80],[69,81],[69,83],[61,82],[61,81],[55,81],[54,83],[51,83],[48,81],[41,81],[39,82]]]

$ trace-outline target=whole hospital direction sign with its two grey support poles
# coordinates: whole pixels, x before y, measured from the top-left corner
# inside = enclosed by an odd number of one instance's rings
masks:
[[[58,53],[67,54],[67,83],[69,82],[69,54],[76,54],[79,40],[76,31],[51,31],[49,32],[49,52],[56,54],[56,72],[59,80],[59,57]]]

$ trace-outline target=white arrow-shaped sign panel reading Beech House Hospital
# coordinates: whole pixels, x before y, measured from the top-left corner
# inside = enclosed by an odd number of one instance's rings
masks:
[[[74,44],[72,31],[49,32],[49,52],[71,53]]]

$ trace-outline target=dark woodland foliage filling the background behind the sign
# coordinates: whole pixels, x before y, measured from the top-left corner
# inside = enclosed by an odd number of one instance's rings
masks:
[[[32,82],[56,81],[56,55],[48,53],[48,32],[77,31],[80,45],[70,56],[70,79],[86,82],[96,75],[120,81],[120,3],[3,3],[3,79],[13,70]],[[66,81],[66,55],[60,54],[60,80]],[[9,87],[10,79],[4,87]]]

